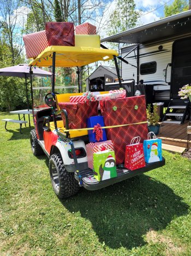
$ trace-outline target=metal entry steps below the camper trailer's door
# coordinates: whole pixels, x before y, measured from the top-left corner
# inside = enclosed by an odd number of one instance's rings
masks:
[[[188,117],[190,102],[181,99],[172,99],[163,117],[163,123],[182,124]],[[174,110],[174,111],[173,111]],[[170,112],[172,111],[172,112]],[[175,118],[173,118],[175,117]],[[169,120],[171,118],[171,120]]]

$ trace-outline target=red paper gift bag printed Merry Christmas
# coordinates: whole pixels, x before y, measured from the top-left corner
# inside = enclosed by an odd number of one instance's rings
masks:
[[[124,167],[129,170],[145,167],[144,149],[140,139],[140,136],[134,137],[130,145],[126,146]]]

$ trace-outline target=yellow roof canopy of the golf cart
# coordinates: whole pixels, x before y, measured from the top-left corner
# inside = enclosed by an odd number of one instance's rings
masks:
[[[30,66],[52,66],[52,54],[56,53],[56,67],[80,67],[96,61],[111,60],[118,56],[116,50],[52,45],[30,62]]]

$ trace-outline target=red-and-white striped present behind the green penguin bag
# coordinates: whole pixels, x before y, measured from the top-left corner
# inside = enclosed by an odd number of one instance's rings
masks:
[[[87,162],[88,162],[88,167],[90,169],[93,169],[93,153],[104,151],[106,149],[110,149],[111,151],[114,151],[114,145],[112,144],[111,140],[106,140],[104,142],[96,142],[96,143],[91,142],[86,145]]]

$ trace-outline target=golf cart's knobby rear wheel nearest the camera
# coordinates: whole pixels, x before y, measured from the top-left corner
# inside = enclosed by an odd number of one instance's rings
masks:
[[[61,154],[56,153],[50,157],[49,171],[53,191],[59,199],[74,196],[80,190],[74,173],[69,173],[65,169]]]

